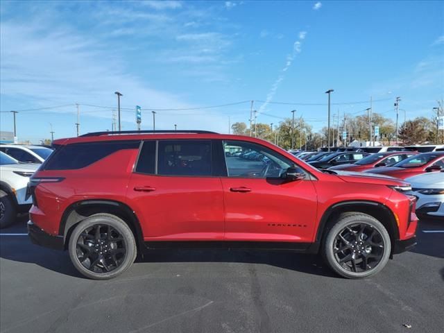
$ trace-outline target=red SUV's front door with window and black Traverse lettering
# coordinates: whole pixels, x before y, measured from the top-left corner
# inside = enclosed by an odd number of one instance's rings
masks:
[[[281,174],[293,162],[259,144],[223,142],[227,176],[221,178],[228,241],[311,242],[316,223],[316,189]]]

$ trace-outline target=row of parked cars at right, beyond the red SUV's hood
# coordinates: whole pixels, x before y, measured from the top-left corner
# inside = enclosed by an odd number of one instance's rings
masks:
[[[409,146],[399,147],[398,151],[382,148],[377,153],[366,153],[359,148],[340,150],[300,151],[293,155],[318,169],[377,174],[406,180],[411,184],[412,194],[417,198],[418,216],[422,219],[444,221],[444,147]]]

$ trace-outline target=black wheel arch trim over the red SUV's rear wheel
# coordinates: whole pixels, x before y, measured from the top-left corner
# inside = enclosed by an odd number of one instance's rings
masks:
[[[118,216],[122,219],[136,239],[137,249],[139,253],[143,253],[142,246],[144,245],[144,237],[142,228],[140,227],[139,219],[135,212],[125,203],[116,200],[80,200],[67,207],[62,214],[62,219],[59,226],[59,235],[63,236],[65,250],[69,243],[69,237],[78,223],[86,219],[92,214],[109,213]]]

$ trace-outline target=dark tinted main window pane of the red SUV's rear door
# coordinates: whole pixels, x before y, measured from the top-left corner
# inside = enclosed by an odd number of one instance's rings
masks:
[[[157,174],[211,176],[210,140],[159,141]]]

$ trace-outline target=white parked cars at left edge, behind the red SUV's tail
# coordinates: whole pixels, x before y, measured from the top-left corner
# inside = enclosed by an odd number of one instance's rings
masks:
[[[0,228],[31,208],[32,200],[26,198],[29,178],[52,152],[47,146],[0,144]]]

